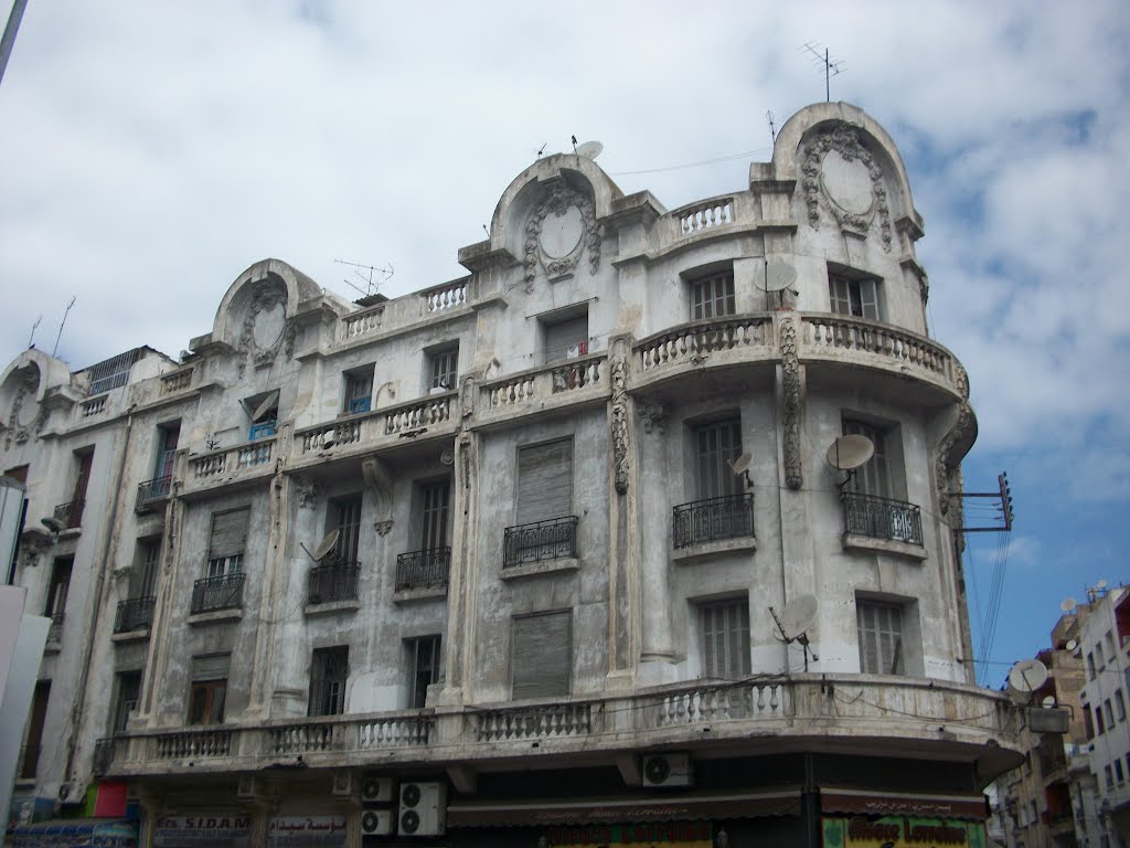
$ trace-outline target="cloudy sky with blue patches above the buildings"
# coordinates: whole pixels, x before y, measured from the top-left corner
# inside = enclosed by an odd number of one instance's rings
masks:
[[[71,297],[72,367],[175,356],[266,257],[349,297],[334,259],[391,266],[392,296],[462,276],[574,133],[668,208],[740,190],[766,112],[824,99],[806,43],[906,161],[980,421],[967,487],[1012,482],[1015,531],[966,562],[979,654],[1000,597],[997,685],[1066,596],[1130,577],[1124,1],[29,0],[0,84],[0,362],[41,317],[50,351]]]

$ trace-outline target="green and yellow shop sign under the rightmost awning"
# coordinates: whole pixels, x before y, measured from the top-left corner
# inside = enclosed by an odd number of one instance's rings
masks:
[[[986,848],[983,822],[824,816],[824,848]]]

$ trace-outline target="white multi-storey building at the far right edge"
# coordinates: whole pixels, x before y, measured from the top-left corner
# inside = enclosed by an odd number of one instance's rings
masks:
[[[1088,590],[1092,612],[1083,622],[1079,650],[1086,685],[1079,693],[1090,739],[1090,773],[1098,794],[1103,848],[1130,846],[1130,591]]]

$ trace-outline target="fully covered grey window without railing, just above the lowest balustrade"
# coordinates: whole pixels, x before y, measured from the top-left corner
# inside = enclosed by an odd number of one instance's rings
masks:
[[[539,613],[514,618],[511,633],[512,698],[567,695],[572,663],[572,613]]]

